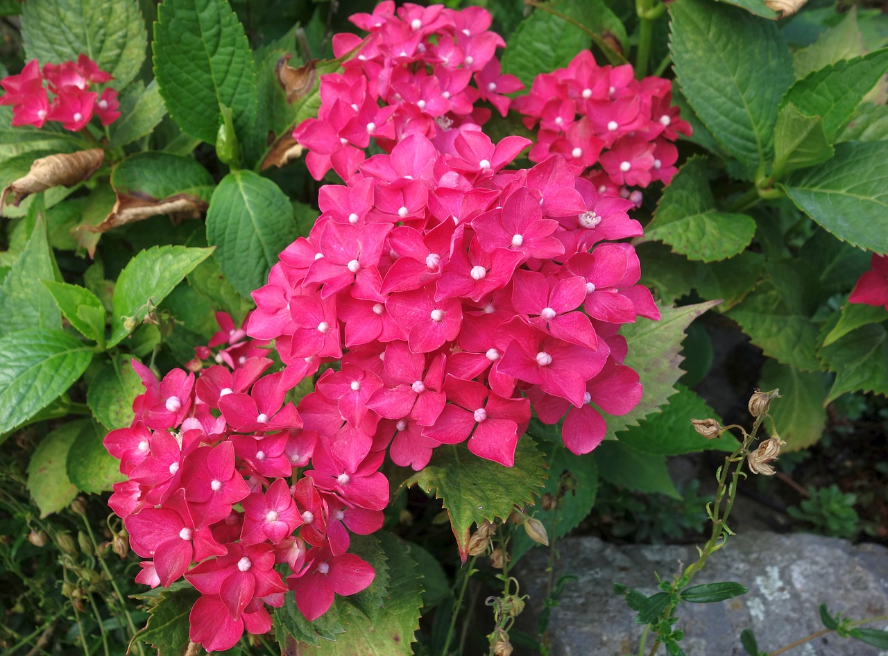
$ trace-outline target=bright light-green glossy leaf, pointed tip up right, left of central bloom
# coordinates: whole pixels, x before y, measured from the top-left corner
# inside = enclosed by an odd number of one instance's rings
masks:
[[[212,252],[213,249],[155,246],[133,257],[115,284],[111,339],[107,345],[114,346],[129,335],[148,312]]]

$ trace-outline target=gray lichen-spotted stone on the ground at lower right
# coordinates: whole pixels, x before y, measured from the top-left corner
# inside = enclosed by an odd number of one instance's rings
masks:
[[[623,656],[638,651],[642,627],[623,597],[612,591],[624,583],[647,595],[656,579],[672,576],[696,559],[694,546],[617,546],[598,538],[559,541],[555,580],[574,573],[559,606],[552,609],[551,656]],[[521,591],[530,594],[519,627],[535,633],[546,594],[548,549],[534,549],[514,572]],[[692,583],[737,581],[746,595],[718,604],[682,604],[678,628],[687,656],[741,656],[740,633],[751,628],[761,651],[773,652],[823,628],[818,606],[860,620],[888,614],[888,549],[875,544],[804,533],[752,532],[729,539],[710,556]],[[888,621],[867,628],[888,629]],[[648,640],[648,648],[651,644]],[[529,650],[516,648],[515,656]],[[661,648],[660,653],[665,653]],[[787,652],[789,656],[888,656],[888,652],[830,633]]]

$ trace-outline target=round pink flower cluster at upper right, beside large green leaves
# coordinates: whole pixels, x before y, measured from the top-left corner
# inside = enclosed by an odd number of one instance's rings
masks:
[[[589,177],[599,194],[627,198],[628,187],[652,180],[668,185],[676,173],[672,142],[679,133],[689,135],[691,126],[671,101],[669,80],[638,82],[630,64],[599,67],[590,51],[581,51],[567,68],[537,75],[512,108],[526,116],[527,128],[539,123],[531,162],[559,154],[577,175],[598,164]],[[631,194],[638,204],[641,193]]]

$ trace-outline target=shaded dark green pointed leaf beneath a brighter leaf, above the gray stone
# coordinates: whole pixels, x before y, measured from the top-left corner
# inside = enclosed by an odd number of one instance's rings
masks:
[[[666,468],[665,455],[643,454],[621,442],[606,440],[592,452],[599,476],[616,486],[681,499]]]

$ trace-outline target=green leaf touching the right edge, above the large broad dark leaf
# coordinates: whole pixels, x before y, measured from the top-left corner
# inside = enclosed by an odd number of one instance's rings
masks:
[[[842,59],[793,84],[781,105],[792,103],[802,114],[821,116],[823,131],[829,141],[834,142],[886,70],[888,48],[863,57]]]

